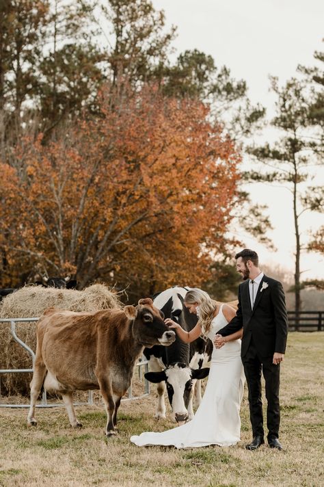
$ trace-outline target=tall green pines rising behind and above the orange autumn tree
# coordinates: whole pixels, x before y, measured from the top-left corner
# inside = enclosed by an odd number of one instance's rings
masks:
[[[217,69],[211,56],[185,51],[171,66],[175,29],[165,31],[164,14],[150,0],[7,0],[0,8],[7,140],[33,121],[47,141],[58,124],[85,112],[97,115],[103,83],[110,90],[125,82],[133,88],[156,83],[165,96],[217,98],[223,110],[239,100],[237,124],[243,106],[244,120],[262,112],[249,105],[245,82],[231,79],[226,67]]]

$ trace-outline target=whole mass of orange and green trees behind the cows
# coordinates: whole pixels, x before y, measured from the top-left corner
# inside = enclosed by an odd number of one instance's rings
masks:
[[[230,223],[270,227],[239,186],[265,110],[206,53],[172,64],[175,35],[150,0],[0,1],[0,286],[236,288]]]

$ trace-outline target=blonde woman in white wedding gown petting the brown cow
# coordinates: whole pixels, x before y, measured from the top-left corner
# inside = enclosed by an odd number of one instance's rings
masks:
[[[190,343],[200,334],[213,341],[217,331],[226,326],[235,316],[227,304],[220,306],[201,289],[191,289],[185,295],[185,306],[190,313],[198,315],[198,323],[191,332],[165,319],[174,328],[178,337]],[[131,436],[131,442],[145,445],[174,445],[176,448],[206,447],[219,445],[228,447],[240,440],[240,405],[243,396],[243,365],[241,362],[242,330],[225,337],[225,345],[213,349],[211,371],[202,402],[189,423],[161,433],[145,432]]]

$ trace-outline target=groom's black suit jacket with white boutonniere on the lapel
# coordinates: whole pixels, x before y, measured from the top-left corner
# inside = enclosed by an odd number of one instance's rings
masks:
[[[242,327],[242,358],[247,354],[252,338],[260,358],[273,356],[274,352],[284,354],[288,319],[284,289],[278,280],[263,276],[253,309],[249,298],[249,279],[241,282],[237,315],[218,333],[226,337]]]

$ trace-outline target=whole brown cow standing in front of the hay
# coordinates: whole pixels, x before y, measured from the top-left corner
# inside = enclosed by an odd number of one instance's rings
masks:
[[[100,389],[107,411],[107,436],[116,434],[120,399],[131,384],[144,347],[170,345],[175,339],[150,298],[139,300],[136,307],[125,306],[123,311],[75,313],[49,308],[40,317],[36,334],[27,423],[36,425],[35,405],[43,382],[47,391],[62,395],[73,427],[81,426],[73,408],[73,391]]]

